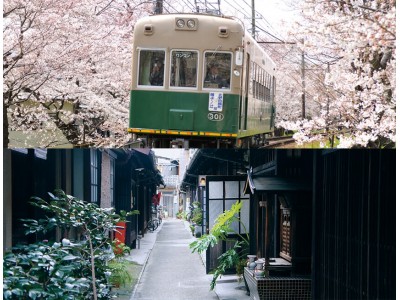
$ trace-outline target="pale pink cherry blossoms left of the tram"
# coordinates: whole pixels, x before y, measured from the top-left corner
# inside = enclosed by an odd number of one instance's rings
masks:
[[[46,132],[26,146],[53,146],[55,130],[73,145],[122,144],[131,33],[151,10],[151,1],[5,1],[3,145],[9,130]]]

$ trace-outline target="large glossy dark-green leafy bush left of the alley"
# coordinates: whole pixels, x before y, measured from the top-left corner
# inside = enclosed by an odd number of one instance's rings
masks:
[[[32,205],[45,211],[40,220],[25,219],[26,234],[72,228],[83,239],[66,236],[60,242],[19,245],[3,259],[4,299],[110,299],[108,266],[112,253],[109,232],[121,216],[57,190],[50,200],[32,197]]]

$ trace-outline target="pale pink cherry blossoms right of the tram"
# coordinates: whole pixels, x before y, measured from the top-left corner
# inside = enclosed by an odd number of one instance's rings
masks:
[[[319,115],[281,122],[301,144],[330,137],[338,147],[393,147],[396,115],[396,15],[393,0],[305,0],[291,32],[325,69],[314,94]],[[321,146],[326,146],[321,144]]]

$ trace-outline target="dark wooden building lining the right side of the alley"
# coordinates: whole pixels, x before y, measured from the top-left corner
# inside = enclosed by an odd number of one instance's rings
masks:
[[[237,198],[249,199],[250,254],[266,260],[260,299],[394,299],[395,165],[393,150],[206,149],[182,188],[200,199],[197,178],[208,178],[210,209],[216,176],[247,173]],[[221,251],[210,251],[207,265]]]

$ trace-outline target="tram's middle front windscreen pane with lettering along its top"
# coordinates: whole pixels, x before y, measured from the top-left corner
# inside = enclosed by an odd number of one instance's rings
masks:
[[[196,87],[198,62],[197,52],[173,50],[171,56],[170,86]]]

